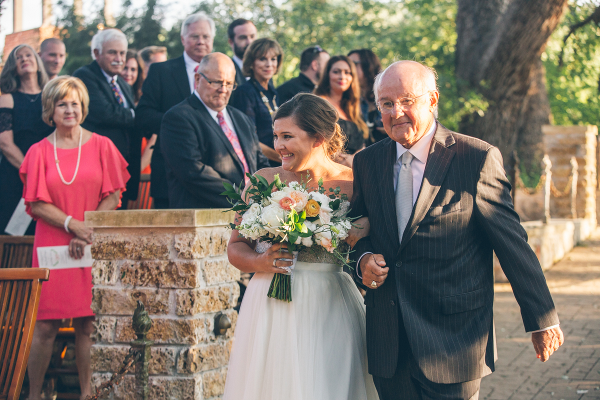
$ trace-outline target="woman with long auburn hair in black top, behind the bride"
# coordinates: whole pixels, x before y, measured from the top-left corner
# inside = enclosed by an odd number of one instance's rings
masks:
[[[361,116],[361,88],[354,63],[346,56],[330,58],[314,94],[335,107],[340,117],[338,124],[346,134],[343,154],[336,161],[352,167],[354,155],[365,148],[369,134]]]

